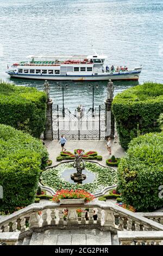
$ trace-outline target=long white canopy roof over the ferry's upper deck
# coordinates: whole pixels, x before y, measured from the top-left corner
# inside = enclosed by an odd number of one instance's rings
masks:
[[[40,58],[40,59],[105,59],[104,55],[29,55],[27,58]]]

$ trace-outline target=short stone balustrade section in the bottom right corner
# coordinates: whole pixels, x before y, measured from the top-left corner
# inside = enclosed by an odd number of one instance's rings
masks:
[[[163,231],[117,231],[120,245],[160,245]]]

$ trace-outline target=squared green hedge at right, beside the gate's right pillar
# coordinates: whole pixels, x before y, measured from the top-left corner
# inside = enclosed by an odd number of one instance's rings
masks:
[[[137,135],[159,132],[157,119],[163,109],[163,84],[144,83],[115,96],[115,115],[120,144],[124,149]]]

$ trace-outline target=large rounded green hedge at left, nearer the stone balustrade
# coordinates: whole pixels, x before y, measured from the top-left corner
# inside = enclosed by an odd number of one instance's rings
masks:
[[[48,153],[39,139],[0,124],[0,211],[14,211],[34,202],[41,168]]]

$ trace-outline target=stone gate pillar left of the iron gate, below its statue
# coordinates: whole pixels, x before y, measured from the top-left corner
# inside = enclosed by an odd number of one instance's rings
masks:
[[[48,141],[53,140],[52,105],[53,105],[52,100],[47,102],[46,125],[45,125],[44,139],[46,139]]]

